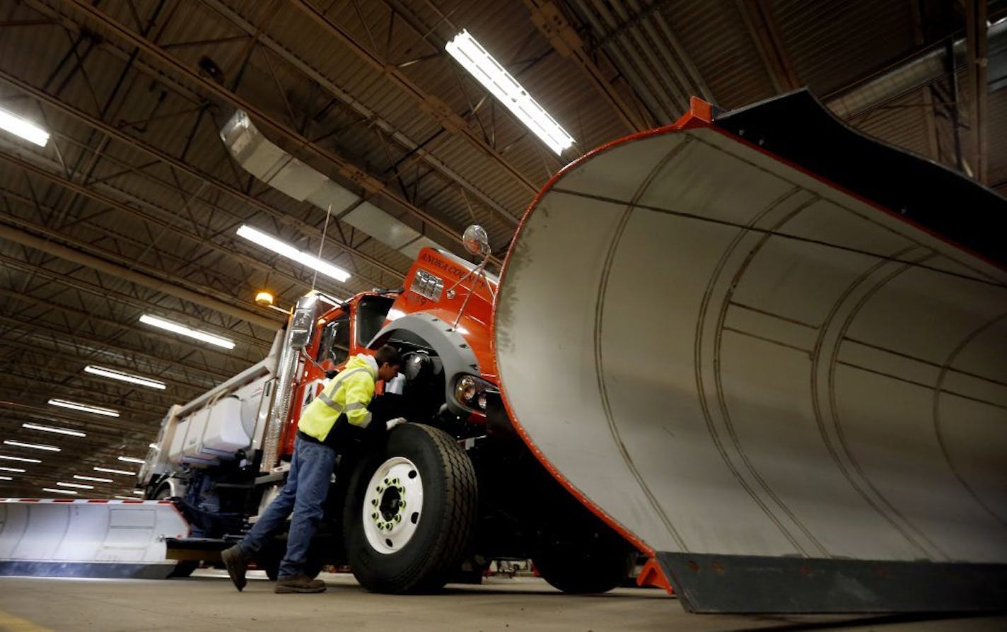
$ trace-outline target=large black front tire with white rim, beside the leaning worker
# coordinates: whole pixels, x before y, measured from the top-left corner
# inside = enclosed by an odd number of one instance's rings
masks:
[[[439,590],[466,552],[477,500],[472,462],[449,435],[394,429],[357,466],[343,507],[356,581],[377,593]]]

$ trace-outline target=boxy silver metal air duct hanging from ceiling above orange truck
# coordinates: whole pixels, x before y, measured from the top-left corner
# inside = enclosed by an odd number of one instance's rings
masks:
[[[447,250],[336,184],[267,139],[239,110],[221,130],[228,152],[246,171],[297,201],[308,201],[385,246],[415,259],[426,247]]]

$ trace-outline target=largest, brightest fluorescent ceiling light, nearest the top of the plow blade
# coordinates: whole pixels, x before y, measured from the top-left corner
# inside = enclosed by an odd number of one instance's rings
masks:
[[[573,145],[573,137],[467,30],[455,35],[444,49],[554,152],[560,154]]]

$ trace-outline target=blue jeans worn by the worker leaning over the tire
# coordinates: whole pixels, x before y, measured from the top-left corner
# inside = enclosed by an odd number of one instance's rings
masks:
[[[287,484],[262,512],[248,535],[238,543],[242,555],[248,558],[262,548],[283,527],[293,511],[287,535],[287,554],[280,563],[279,577],[287,579],[304,573],[308,546],[321,521],[334,466],[335,450],[297,437]]]

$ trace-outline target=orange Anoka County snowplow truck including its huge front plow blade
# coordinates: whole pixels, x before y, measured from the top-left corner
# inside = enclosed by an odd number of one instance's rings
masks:
[[[559,172],[499,278],[476,227],[480,264],[424,249],[399,290],[303,297],[266,359],[169,411],[140,484],[199,536],[169,552],[210,557],[326,372],[392,344],[409,423],[341,456],[314,570],[406,593],[531,559],[584,593],[645,558],[694,612],[1002,608],[1004,216],[807,93],[694,101]]]

